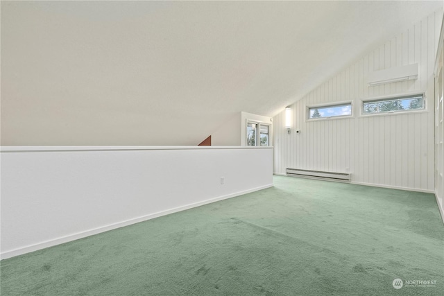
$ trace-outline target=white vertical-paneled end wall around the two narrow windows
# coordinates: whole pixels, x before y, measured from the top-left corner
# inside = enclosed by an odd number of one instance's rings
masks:
[[[285,168],[350,172],[352,182],[434,191],[434,63],[442,12],[435,12],[355,62],[274,118],[274,171]],[[369,87],[373,71],[418,63],[418,80]],[[361,115],[361,101],[425,92],[426,110]],[[353,116],[307,121],[307,105],[352,101]],[[296,134],[295,130],[300,130]]]

